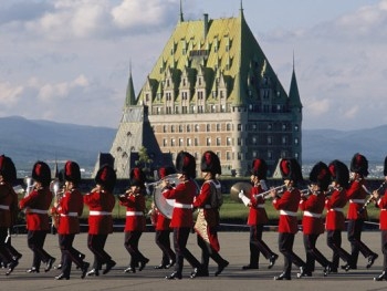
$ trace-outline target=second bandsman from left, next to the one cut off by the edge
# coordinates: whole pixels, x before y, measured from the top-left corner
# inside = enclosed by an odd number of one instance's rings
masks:
[[[50,190],[51,170],[44,162],[36,162],[32,168],[33,189],[19,202],[20,209],[25,209],[28,246],[33,251],[32,267],[28,273],[39,273],[41,261],[45,262],[44,271],[51,270],[55,258],[44,249],[46,233],[50,231],[49,208],[52,201]]]

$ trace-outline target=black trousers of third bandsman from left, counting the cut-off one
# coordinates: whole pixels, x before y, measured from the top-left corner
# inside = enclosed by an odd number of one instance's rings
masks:
[[[73,247],[75,233],[57,235],[57,237],[62,251],[62,272],[65,277],[70,277],[72,262],[79,268],[83,268],[83,260],[81,259],[82,253]]]

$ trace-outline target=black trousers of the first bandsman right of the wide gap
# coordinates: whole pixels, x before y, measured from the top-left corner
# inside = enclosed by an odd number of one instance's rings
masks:
[[[250,226],[250,266],[257,267],[260,261],[260,253],[268,260],[274,252],[262,240],[263,225]]]

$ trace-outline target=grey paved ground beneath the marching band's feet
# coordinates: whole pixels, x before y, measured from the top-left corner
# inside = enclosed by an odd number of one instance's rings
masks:
[[[51,270],[44,273],[43,268],[41,273],[25,273],[25,270],[31,267],[32,253],[27,247],[25,235],[19,235],[12,238],[12,245],[23,254],[20,264],[9,277],[4,276],[6,270],[0,270],[0,288],[1,290],[49,290],[56,291],[70,289],[74,290],[387,290],[387,281],[375,282],[373,277],[380,273],[381,270],[381,252],[380,252],[380,233],[378,231],[369,231],[363,233],[363,240],[379,254],[373,268],[365,268],[367,261],[362,256],[359,257],[358,270],[349,272],[339,271],[337,274],[330,274],[324,278],[322,267],[317,266],[312,278],[296,279],[297,269],[293,268],[292,281],[273,281],[273,277],[282,270],[283,258],[280,256],[273,269],[268,269],[268,261],[261,258],[259,270],[242,271],[241,267],[248,262],[249,258],[249,232],[220,232],[221,254],[230,261],[230,266],[219,276],[213,277],[216,266],[211,261],[211,276],[208,278],[188,279],[191,271],[190,266],[186,263],[184,269],[184,279],[177,281],[168,281],[165,276],[171,270],[155,270],[154,267],[160,262],[161,253],[155,245],[155,233],[146,232],[140,239],[139,248],[143,253],[150,259],[150,262],[142,272],[126,274],[123,270],[127,267],[129,256],[126,252],[123,241],[124,235],[115,232],[107,239],[106,250],[117,262],[109,273],[96,278],[86,277],[80,279],[80,271],[73,269],[71,280],[56,281],[54,277],[59,273],[57,270]],[[92,262],[93,257],[86,247],[86,233],[81,233],[75,238],[74,246],[86,254],[86,261]],[[273,250],[278,252],[278,233],[268,231],[263,233],[264,240]],[[343,233],[343,247],[349,250],[349,245],[346,240],[346,232]],[[196,245],[196,236],[191,235],[188,248],[197,258],[199,248]],[[331,258],[332,252],[326,247],[325,236],[318,240],[320,250]],[[49,235],[45,242],[45,249],[60,258],[57,247],[57,236]],[[295,252],[301,258],[305,258],[305,252],[302,243],[302,235],[299,233],[295,240]]]

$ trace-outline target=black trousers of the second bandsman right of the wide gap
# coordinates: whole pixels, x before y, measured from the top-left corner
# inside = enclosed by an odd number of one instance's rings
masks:
[[[280,232],[279,235],[279,248],[280,252],[284,257],[283,272],[285,276],[291,276],[292,263],[296,267],[305,266],[305,262],[293,252],[294,233]]]

